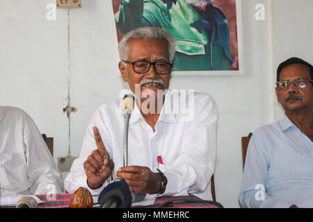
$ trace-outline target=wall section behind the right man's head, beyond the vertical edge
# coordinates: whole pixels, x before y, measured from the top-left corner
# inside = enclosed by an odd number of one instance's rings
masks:
[[[302,58],[313,64],[312,10],[311,0],[273,0],[275,71],[280,62],[291,57]],[[274,77],[276,80],[276,75]],[[275,98],[275,119],[281,119],[283,115],[284,111]]]

